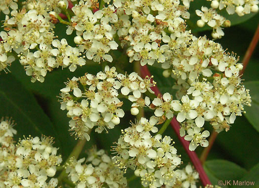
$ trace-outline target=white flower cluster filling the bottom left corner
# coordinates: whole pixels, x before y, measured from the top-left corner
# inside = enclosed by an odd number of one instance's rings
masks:
[[[0,187],[56,188],[58,180],[52,177],[62,158],[52,146],[53,138],[30,136],[15,145],[13,125],[9,119],[0,122]]]

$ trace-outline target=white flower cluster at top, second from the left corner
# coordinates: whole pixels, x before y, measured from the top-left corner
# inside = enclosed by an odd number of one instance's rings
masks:
[[[108,53],[118,47],[113,39],[116,31],[112,29],[118,17],[113,5],[93,13],[92,8],[97,2],[81,0],[72,8],[75,15],[71,19],[72,26],[68,27],[67,34],[72,34],[73,30],[76,31],[77,36],[74,37],[74,42],[79,45],[80,49],[86,51],[88,60],[112,62],[112,57]]]

